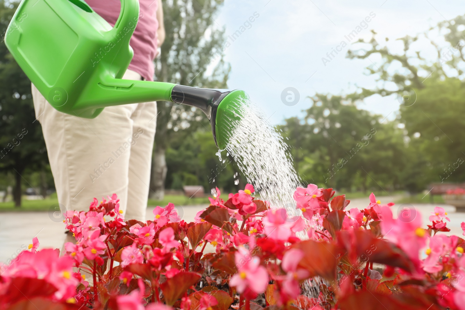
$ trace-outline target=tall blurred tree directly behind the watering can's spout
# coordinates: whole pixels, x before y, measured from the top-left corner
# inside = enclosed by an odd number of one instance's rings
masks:
[[[159,81],[186,86],[226,88],[230,71],[222,57],[214,59],[217,66],[207,74],[214,52],[224,43],[224,31],[218,30],[213,15],[224,0],[178,0],[163,1],[166,40],[155,60],[155,75]],[[166,179],[166,150],[173,132],[190,127],[209,129],[209,122],[199,110],[191,107],[157,102],[158,117],[153,152],[150,196],[162,199]],[[213,140],[210,135],[207,139]],[[213,150],[216,147],[213,148]]]

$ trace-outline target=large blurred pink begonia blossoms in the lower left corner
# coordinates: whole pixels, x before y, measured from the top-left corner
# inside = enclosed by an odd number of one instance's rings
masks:
[[[76,294],[79,280],[73,277],[74,261],[71,257],[60,257],[60,251],[44,249],[37,252],[22,251],[3,271],[2,277],[27,277],[44,279],[57,288],[56,300],[67,300]]]

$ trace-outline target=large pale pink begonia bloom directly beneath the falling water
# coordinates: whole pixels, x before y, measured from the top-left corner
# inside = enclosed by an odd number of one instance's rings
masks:
[[[286,209],[267,211],[262,223],[267,237],[282,241],[287,241],[295,232],[305,228],[305,221],[301,217],[287,218]]]

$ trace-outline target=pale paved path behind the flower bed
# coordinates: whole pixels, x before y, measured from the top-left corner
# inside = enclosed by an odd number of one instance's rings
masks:
[[[399,197],[377,197],[383,204],[395,201]],[[349,208],[363,209],[369,204],[368,198],[353,199]],[[433,204],[396,204],[392,206],[392,212],[397,214],[405,207],[414,208],[419,211],[423,218],[423,225],[429,223],[428,217],[436,205]],[[440,205],[448,212],[451,223],[448,227],[451,232],[462,236],[460,223],[465,222],[465,213],[456,213],[455,207],[451,205]],[[193,221],[195,214],[206,205],[187,205],[176,206],[179,215],[187,222]],[[147,209],[147,219],[153,219],[153,207]],[[5,212],[0,213],[0,262],[7,262],[8,259],[14,258],[17,253],[27,248],[32,242],[33,237],[37,236],[40,242],[40,248],[53,247],[60,248],[63,244],[64,225],[60,218],[54,218],[53,214],[48,212]]]

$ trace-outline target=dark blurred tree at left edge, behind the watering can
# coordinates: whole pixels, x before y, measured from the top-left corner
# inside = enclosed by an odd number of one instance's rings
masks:
[[[0,170],[14,176],[17,207],[21,205],[23,172],[27,168],[39,170],[48,163],[42,128],[35,120],[31,81],[3,41],[18,3],[0,0]]]

